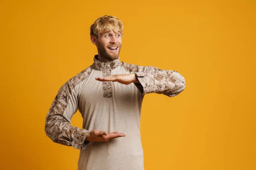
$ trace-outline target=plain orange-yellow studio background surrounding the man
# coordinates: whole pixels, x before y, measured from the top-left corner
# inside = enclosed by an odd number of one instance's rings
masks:
[[[145,170],[255,170],[255,10],[253,0],[1,0],[0,169],[77,169],[79,150],[52,142],[45,117],[93,63],[89,28],[108,14],[125,27],[121,61],[186,79],[178,96],[145,96]]]

